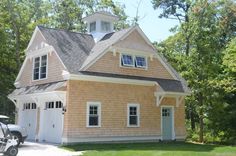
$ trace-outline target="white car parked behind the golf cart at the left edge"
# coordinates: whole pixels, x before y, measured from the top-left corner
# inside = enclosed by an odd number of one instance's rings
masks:
[[[9,117],[7,117],[5,115],[0,115],[0,122],[2,125],[6,125],[5,123],[6,123],[7,119],[9,119]],[[8,126],[8,129],[10,130],[11,134],[16,139],[17,145],[19,145],[20,143],[24,143],[25,139],[28,136],[26,128],[21,127],[19,125],[15,125],[15,124],[7,124],[7,126]]]

